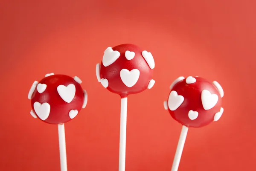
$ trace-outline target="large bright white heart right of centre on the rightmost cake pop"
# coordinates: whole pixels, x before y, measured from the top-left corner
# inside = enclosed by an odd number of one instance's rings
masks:
[[[209,110],[215,106],[218,102],[218,95],[211,94],[208,90],[203,90],[201,94],[201,100],[204,110]]]

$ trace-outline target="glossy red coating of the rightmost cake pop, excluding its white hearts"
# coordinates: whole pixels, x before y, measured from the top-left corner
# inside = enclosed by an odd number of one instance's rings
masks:
[[[172,111],[168,108],[172,118],[186,127],[199,128],[210,124],[213,121],[215,113],[220,111],[221,96],[217,88],[212,82],[204,78],[195,77],[196,82],[186,84],[186,78],[174,85],[171,91],[176,91],[178,95],[184,97],[183,103],[176,110]],[[218,95],[218,102],[209,110],[204,110],[201,101],[201,92],[208,90],[212,94]],[[189,110],[197,111],[198,117],[191,120],[188,117]]]

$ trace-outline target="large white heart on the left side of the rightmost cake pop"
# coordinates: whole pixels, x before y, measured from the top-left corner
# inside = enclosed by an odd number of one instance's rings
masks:
[[[168,98],[168,107],[170,110],[176,110],[183,103],[184,97],[178,95],[176,91],[171,91]]]

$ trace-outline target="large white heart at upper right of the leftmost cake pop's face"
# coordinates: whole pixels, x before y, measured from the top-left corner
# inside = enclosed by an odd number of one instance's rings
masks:
[[[76,94],[76,87],[74,84],[69,84],[67,87],[64,85],[59,85],[57,87],[58,94],[61,96],[61,99],[70,103]]]

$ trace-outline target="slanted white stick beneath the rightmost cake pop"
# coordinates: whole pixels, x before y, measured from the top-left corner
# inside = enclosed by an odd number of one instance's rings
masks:
[[[183,147],[186,141],[186,135],[188,133],[189,128],[186,126],[182,126],[181,133],[180,133],[180,139],[177,145],[175,157],[172,163],[172,171],[177,171],[180,164],[180,158],[183,151]]]

